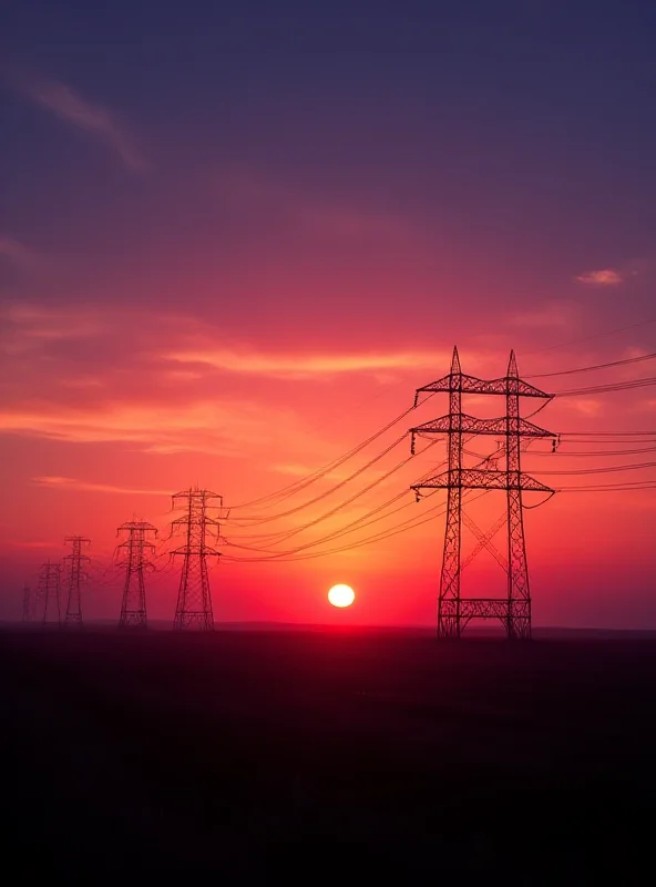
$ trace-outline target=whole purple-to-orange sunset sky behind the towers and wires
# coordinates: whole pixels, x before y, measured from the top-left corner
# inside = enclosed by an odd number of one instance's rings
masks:
[[[91,539],[86,618],[117,619],[136,518],[160,530],[148,614],[171,620],[171,495],[197,485],[223,496],[218,622],[434,624],[445,495],[409,487],[445,448],[409,458],[403,435],[444,397],[304,479],[412,407],[454,345],[481,378],[511,348],[525,377],[656,351],[655,28],[631,0],[6,10],[0,619],[71,534]],[[647,385],[535,417],[562,436],[523,456],[560,490],[525,497],[535,625],[656,629],[654,490],[567,489],[656,480],[655,409]],[[504,591],[489,552],[463,570],[463,594]]]

